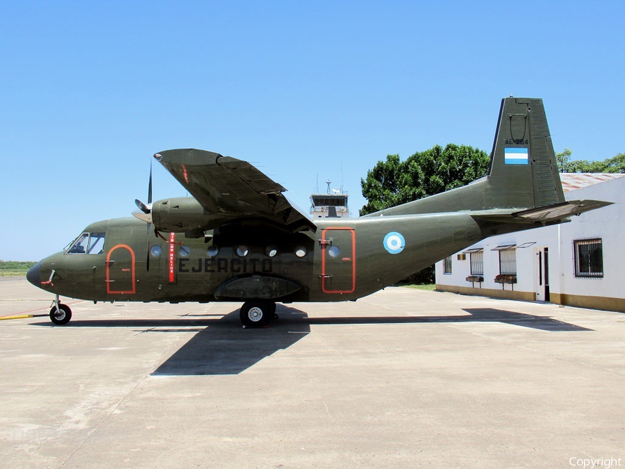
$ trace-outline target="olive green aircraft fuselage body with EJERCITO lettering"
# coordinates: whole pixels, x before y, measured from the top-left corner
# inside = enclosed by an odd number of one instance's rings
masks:
[[[96,222],[85,233],[106,233],[101,252],[45,258],[42,288],[94,301],[345,301],[397,283],[492,234],[466,213],[316,223],[316,233],[246,223],[216,229],[212,237],[163,233],[162,239],[153,231],[148,238],[146,224],[135,218]],[[385,240],[392,233],[403,237],[403,247],[397,238]],[[244,282],[240,293],[233,293],[236,284],[220,289],[233,280]]]

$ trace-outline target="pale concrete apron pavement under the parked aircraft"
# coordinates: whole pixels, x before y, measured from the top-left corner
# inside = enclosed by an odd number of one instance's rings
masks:
[[[51,296],[0,281],[0,316]],[[387,288],[0,321],[1,468],[625,466],[625,315]],[[590,468],[591,466],[586,466]]]

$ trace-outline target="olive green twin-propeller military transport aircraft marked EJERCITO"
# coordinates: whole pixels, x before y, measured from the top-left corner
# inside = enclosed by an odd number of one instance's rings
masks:
[[[193,197],[136,201],[135,217],[86,227],[28,271],[56,294],[99,301],[244,302],[265,326],[276,302],[356,300],[488,236],[606,206],[565,201],[542,99],[505,98],[490,170],[468,186],[360,218],[310,220],[250,163],[197,149],[154,155]]]

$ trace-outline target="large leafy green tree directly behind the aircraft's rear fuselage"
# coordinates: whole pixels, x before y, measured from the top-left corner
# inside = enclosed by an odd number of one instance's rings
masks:
[[[485,151],[467,145],[449,144],[444,148],[435,145],[417,151],[406,161],[400,161],[399,155],[388,155],[386,161],[378,161],[367,171],[367,177],[360,179],[367,199],[360,215],[466,186],[485,176],[489,165],[490,157]],[[405,281],[433,283],[434,266],[412,274]]]

